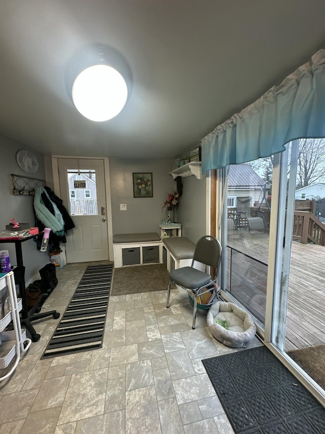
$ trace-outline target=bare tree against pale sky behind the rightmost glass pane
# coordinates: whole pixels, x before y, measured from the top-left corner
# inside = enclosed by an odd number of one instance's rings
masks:
[[[313,184],[325,176],[325,139],[300,139],[298,145],[297,188]]]

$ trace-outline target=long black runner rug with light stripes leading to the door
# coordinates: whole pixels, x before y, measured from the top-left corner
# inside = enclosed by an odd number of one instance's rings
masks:
[[[101,348],[113,264],[89,265],[42,359]]]

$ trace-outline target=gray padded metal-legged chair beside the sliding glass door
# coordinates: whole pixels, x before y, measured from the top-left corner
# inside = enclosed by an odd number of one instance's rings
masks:
[[[200,238],[196,244],[191,266],[178,268],[169,273],[166,307],[169,307],[171,283],[174,282],[184,288],[194,301],[192,329],[195,329],[198,296],[207,292],[205,291],[206,285],[209,283],[215,283],[217,280],[221,261],[221,252],[222,249],[219,241],[210,235],[206,235]],[[195,262],[204,264],[206,271],[204,272],[194,268]],[[208,266],[215,268],[214,279],[212,279],[211,275],[207,273]]]

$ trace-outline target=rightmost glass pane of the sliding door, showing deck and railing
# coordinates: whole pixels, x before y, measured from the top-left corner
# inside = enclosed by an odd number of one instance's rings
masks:
[[[312,182],[319,181],[324,173],[325,140],[295,141],[290,154],[291,159],[296,156],[297,170],[291,164],[287,171],[284,256],[288,256],[289,249],[291,255],[285,261],[285,265],[289,261],[287,305],[283,306],[286,322],[278,346],[312,382],[325,389],[325,225],[318,218],[321,218],[319,202],[323,184]],[[283,330],[281,323],[280,329]],[[272,341],[277,342],[274,338]]]

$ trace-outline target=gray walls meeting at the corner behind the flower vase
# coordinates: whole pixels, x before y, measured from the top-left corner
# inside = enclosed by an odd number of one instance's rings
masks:
[[[166,219],[164,199],[176,190],[176,182],[169,172],[174,160],[110,159],[113,235],[157,232]],[[133,172],[152,172],[153,197],[134,198]],[[206,177],[182,179],[183,195],[177,209],[177,221],[182,223],[182,235],[193,243],[206,235]],[[120,204],[127,210],[120,211]]]

